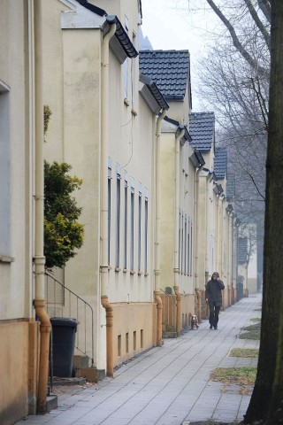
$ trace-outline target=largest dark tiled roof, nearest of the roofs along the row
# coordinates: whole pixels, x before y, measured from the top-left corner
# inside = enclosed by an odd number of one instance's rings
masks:
[[[188,50],[141,50],[140,72],[155,81],[166,100],[184,100],[189,80]]]

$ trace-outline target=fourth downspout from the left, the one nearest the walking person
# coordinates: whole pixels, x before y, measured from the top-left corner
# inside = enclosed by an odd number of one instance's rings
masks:
[[[179,292],[179,201],[180,201],[180,139],[185,134],[185,129],[178,128],[175,135],[175,240],[174,240],[174,292],[177,301],[176,331],[180,334],[180,292]]]

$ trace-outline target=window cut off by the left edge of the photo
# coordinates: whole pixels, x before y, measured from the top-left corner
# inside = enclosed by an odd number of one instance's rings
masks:
[[[9,88],[0,80],[0,255],[11,256]]]

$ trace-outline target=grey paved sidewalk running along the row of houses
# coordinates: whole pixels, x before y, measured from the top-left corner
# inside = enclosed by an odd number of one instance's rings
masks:
[[[114,378],[75,395],[58,396],[58,407],[28,416],[18,425],[180,425],[189,421],[241,421],[249,394],[241,387],[211,382],[216,367],[256,366],[256,359],[228,357],[232,348],[258,348],[239,339],[241,328],[261,315],[261,294],[242,298],[219,316],[218,330],[203,321],[163,347],[144,352],[120,367]]]

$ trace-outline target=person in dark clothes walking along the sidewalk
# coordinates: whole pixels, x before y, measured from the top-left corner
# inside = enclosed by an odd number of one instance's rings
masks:
[[[225,289],[218,272],[214,272],[205,287],[205,301],[210,307],[210,329],[218,328],[218,316],[222,305],[222,290]]]

